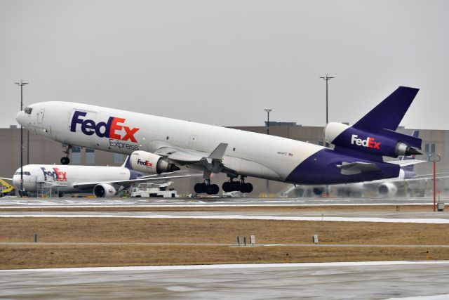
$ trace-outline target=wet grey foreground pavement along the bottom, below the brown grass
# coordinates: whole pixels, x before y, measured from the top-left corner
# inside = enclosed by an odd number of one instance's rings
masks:
[[[0,297],[437,300],[447,282],[449,261],[0,270]]]

